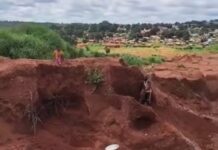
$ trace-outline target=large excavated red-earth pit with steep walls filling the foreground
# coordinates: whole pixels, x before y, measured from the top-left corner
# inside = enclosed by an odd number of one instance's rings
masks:
[[[102,150],[114,143],[120,150],[216,149],[217,123],[208,115],[214,100],[206,86],[198,90],[186,80],[183,86],[195,93],[181,96],[171,88],[179,80],[154,72],[146,106],[138,102],[143,73],[119,61],[25,64],[0,73],[0,149]],[[95,91],[86,82],[92,68],[104,78]]]

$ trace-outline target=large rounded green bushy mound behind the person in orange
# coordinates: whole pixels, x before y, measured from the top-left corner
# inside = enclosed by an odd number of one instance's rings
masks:
[[[49,59],[55,48],[66,58],[76,57],[76,51],[57,33],[39,25],[23,25],[0,30],[0,55],[10,58]]]

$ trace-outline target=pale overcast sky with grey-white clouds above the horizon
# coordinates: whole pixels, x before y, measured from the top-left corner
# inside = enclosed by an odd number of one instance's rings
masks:
[[[0,0],[0,20],[112,23],[218,19],[218,0]]]

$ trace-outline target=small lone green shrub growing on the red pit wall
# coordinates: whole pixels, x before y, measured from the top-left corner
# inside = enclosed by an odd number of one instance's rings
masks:
[[[99,69],[91,69],[87,74],[87,83],[98,87],[104,81],[102,72]]]

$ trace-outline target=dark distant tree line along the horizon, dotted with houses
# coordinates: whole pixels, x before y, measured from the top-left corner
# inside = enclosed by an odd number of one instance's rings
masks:
[[[1,26],[11,26],[25,24],[25,22],[0,22]],[[184,23],[176,22],[170,23],[138,23],[138,24],[116,24],[108,21],[101,23],[71,23],[71,24],[58,24],[58,23],[35,23],[42,24],[48,28],[59,33],[59,35],[71,44],[76,44],[77,38],[83,39],[84,42],[92,39],[100,41],[104,37],[113,37],[114,34],[125,35],[129,40],[139,40],[143,37],[150,37],[158,35],[162,39],[176,37],[178,39],[187,41],[190,39],[191,33],[204,35],[218,29],[218,20],[211,21],[189,21]],[[196,30],[198,29],[198,30]],[[142,33],[146,30],[145,33]]]

